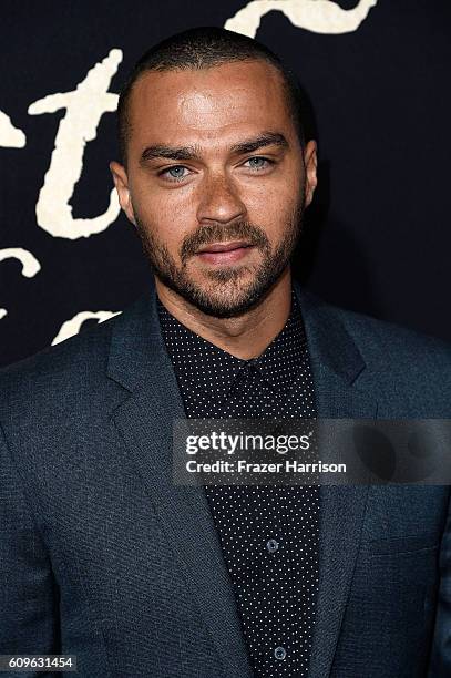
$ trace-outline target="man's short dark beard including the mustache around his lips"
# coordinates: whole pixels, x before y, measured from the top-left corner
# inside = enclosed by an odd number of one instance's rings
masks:
[[[281,239],[270,246],[264,229],[248,220],[229,225],[208,224],[187,235],[180,249],[181,265],[164,243],[153,235],[152,224],[145,225],[134,209],[137,234],[154,275],[203,314],[215,318],[234,318],[250,310],[280,278],[295,251],[304,217],[305,192],[285,224]],[[212,243],[243,239],[262,253],[258,265],[226,265],[207,268],[203,282],[194,280],[187,270],[191,257]]]

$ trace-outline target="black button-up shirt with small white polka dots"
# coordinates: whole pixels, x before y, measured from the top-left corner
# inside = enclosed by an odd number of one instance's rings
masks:
[[[191,331],[158,299],[157,308],[188,418],[316,417],[294,290],[284,329],[250,360]],[[208,485],[205,492],[254,675],[307,677],[318,589],[319,487]]]

